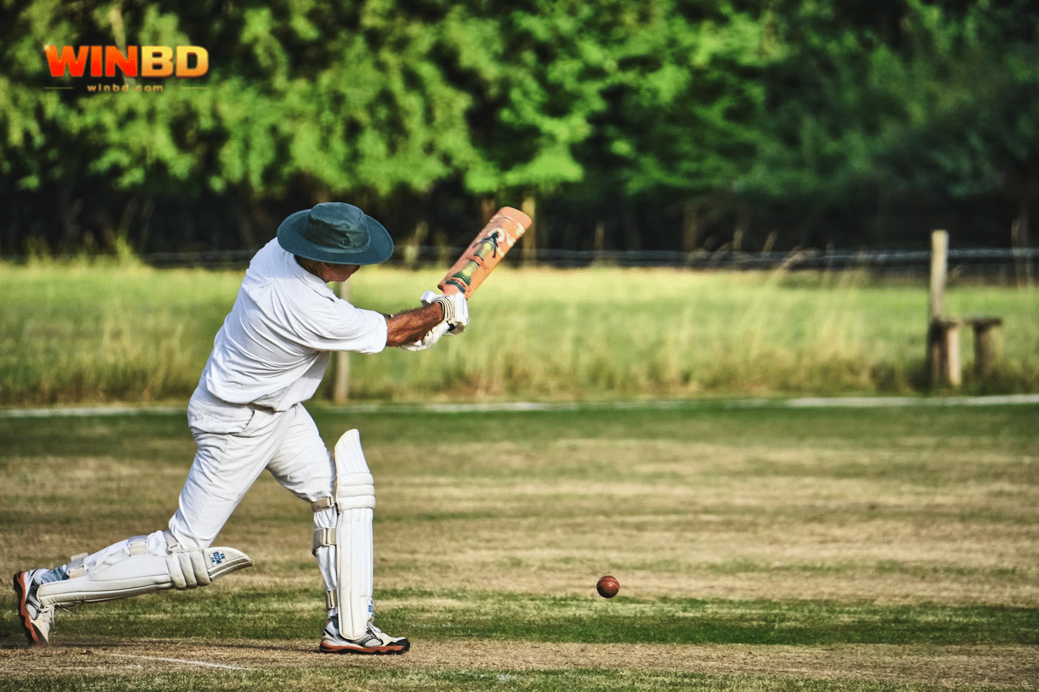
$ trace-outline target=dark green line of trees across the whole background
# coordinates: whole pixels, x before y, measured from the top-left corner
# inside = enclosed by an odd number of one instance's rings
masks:
[[[344,200],[559,249],[1029,244],[1031,0],[0,2],[0,256],[255,249]],[[45,46],[198,46],[197,79]],[[109,86],[162,86],[162,90]]]

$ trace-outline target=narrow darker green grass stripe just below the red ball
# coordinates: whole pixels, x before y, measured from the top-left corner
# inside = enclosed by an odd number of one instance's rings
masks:
[[[153,594],[59,615],[56,636],[316,639],[317,590]],[[1039,644],[1039,609],[623,596],[391,591],[379,625],[409,638],[670,644]],[[6,613],[7,629],[17,622]],[[9,621],[8,621],[9,620]]]

